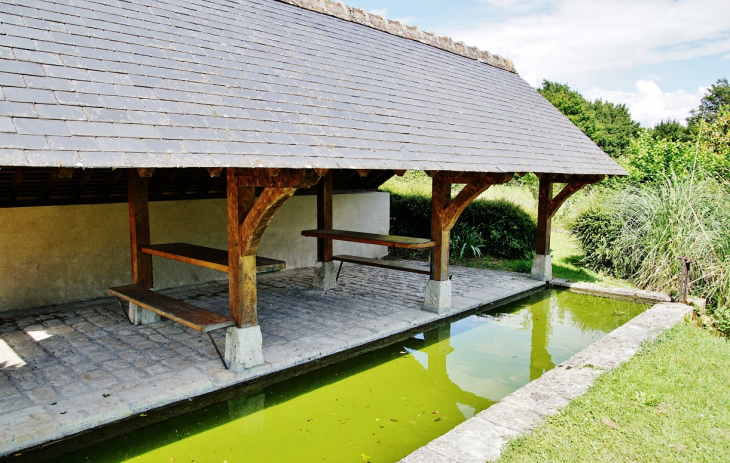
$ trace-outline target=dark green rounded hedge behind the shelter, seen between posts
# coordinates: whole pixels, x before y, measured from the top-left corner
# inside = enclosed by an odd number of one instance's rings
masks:
[[[482,235],[485,254],[508,259],[531,257],[535,252],[537,224],[527,212],[505,200],[475,200],[461,214],[459,223]],[[394,235],[431,236],[431,198],[390,194],[390,232]]]

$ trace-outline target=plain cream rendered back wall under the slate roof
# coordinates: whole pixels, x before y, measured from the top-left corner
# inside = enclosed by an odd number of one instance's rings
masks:
[[[388,233],[388,193],[335,194],[335,228]],[[152,242],[184,242],[227,248],[226,201],[150,203]],[[127,204],[0,209],[0,312],[108,296],[107,288],[131,283]],[[287,268],[313,266],[316,196],[294,196],[271,221],[259,255]],[[382,257],[382,246],[335,242],[336,254]],[[222,272],[154,258],[155,287],[164,289],[214,279]]]

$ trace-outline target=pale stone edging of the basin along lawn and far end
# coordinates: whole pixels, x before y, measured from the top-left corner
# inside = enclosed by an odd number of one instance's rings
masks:
[[[540,378],[411,453],[401,463],[497,460],[508,441],[557,414],[571,400],[585,394],[601,374],[630,360],[645,343],[681,323],[693,310],[690,305],[672,302],[665,293],[557,279],[551,285],[581,294],[654,305]],[[691,302],[704,308],[703,299]]]

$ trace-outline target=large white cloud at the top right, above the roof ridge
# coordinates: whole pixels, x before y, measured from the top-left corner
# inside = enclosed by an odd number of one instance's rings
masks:
[[[730,1],[485,1],[516,5],[518,14],[438,33],[512,59],[532,85],[546,78],[580,86],[603,70],[730,52]],[[537,3],[549,8],[520,14]]]

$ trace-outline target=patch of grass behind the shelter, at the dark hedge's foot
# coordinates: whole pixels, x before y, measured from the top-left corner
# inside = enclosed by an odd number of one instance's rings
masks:
[[[553,277],[610,286],[629,286],[624,281],[581,266],[580,259],[583,257],[583,251],[581,251],[575,238],[569,233],[553,230],[550,242],[553,255]],[[506,270],[509,272],[530,273],[532,270],[532,259],[499,259],[485,256],[471,259],[452,259],[451,263],[465,267]]]

